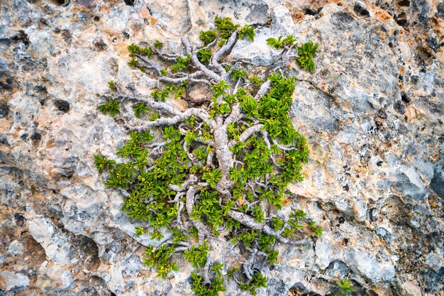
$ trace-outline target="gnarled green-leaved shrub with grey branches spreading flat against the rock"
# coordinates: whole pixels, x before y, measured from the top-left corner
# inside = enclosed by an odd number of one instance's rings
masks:
[[[196,269],[196,295],[225,290],[224,274],[256,295],[267,284],[262,265],[279,262],[277,243],[304,245],[322,229],[300,210],[289,217],[277,211],[288,200],[287,185],[304,179],[309,155],[288,114],[294,77],[279,66],[248,76],[241,62],[222,62],[237,40],[254,40],[255,31],[231,18],[217,17],[215,26],[200,33],[202,45],[182,38],[182,54],[165,53],[160,41],[153,48],[128,46],[128,65],[157,77],[157,89],[143,96],[131,85],[109,84],[111,98],[99,110],[116,116],[130,134],[118,162],[99,154],[95,163],[99,172],[107,170],[105,185],[123,194],[123,211],[145,222],[136,235],[147,232],[159,241],[145,251],[144,263],[162,278],[177,270],[172,255],[179,252]],[[294,38],[282,43],[292,45]],[[196,84],[213,96],[192,99]],[[173,98],[189,108],[180,111]],[[248,259],[233,268],[214,262],[214,237],[242,245]]]

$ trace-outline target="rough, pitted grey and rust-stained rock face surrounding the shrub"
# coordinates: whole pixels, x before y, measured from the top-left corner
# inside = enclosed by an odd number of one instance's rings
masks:
[[[270,65],[270,36],[320,44],[313,75],[291,71],[294,125],[309,140],[306,180],[282,210],[305,209],[324,235],[279,246],[259,295],[326,295],[348,275],[356,295],[443,295],[444,5],[370,1],[25,1],[0,6],[2,295],[189,295],[189,263],[167,280],[140,258],[121,197],[93,165],[125,131],[97,111],[109,80],[148,91],[126,46],[172,50],[213,17],[263,26],[231,57]],[[244,258],[223,240],[211,257]],[[229,256],[228,256],[229,254]],[[241,295],[232,281],[226,295]]]

